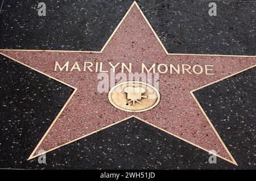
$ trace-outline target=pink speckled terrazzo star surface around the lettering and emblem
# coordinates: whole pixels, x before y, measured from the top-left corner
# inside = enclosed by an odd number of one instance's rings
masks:
[[[229,153],[210,124],[210,120],[193,98],[191,91],[254,66],[255,57],[168,54],[135,2],[101,52],[51,50],[2,50],[1,52],[76,87],[71,99],[53,121],[29,159],[38,156],[39,150],[51,151],[134,115],[201,149],[216,150],[219,157],[236,164],[236,158]],[[132,63],[133,72],[139,73],[142,62],[148,67],[152,64],[213,65],[211,73],[214,75],[160,74],[161,99],[158,106],[146,112],[132,113],[112,106],[108,100],[108,92],[98,92],[98,73],[77,69],[54,71],[56,61],[60,65],[64,65],[67,61],[70,65],[75,62],[83,65],[85,61],[93,64],[102,62],[104,70],[110,69],[108,62],[112,62],[113,65],[118,62]],[[118,72],[120,69],[116,70],[116,73]]]

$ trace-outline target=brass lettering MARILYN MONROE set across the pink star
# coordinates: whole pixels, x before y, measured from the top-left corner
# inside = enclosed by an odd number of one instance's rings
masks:
[[[106,68],[108,66],[108,68]],[[112,64],[111,62],[103,63],[103,62],[83,62],[79,64],[75,62],[70,64],[69,61],[65,62],[64,65],[60,65],[59,62],[55,62],[54,71],[91,71],[91,72],[115,72],[117,69],[121,70],[121,72],[127,71],[128,73],[132,72],[131,63],[125,64],[118,62],[117,64]],[[145,65],[141,64],[141,73],[170,73],[170,74],[205,74],[205,75],[214,75],[213,74],[213,65],[188,65],[188,64],[178,64],[178,65],[166,65],[166,64],[152,64]]]

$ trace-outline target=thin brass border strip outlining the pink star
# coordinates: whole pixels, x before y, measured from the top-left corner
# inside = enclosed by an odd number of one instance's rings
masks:
[[[132,3],[132,5],[130,6],[129,10],[126,12],[125,16],[123,16],[121,22],[119,22],[118,26],[115,28],[115,30],[113,31],[112,35],[109,37],[108,41],[106,41],[104,47],[102,47],[102,49],[101,49],[100,51],[28,50],[28,49],[0,49],[0,51],[1,51],[1,50],[5,50],[5,51],[7,50],[7,51],[31,51],[31,52],[102,53],[102,52],[104,51],[105,47],[108,45],[109,41],[110,41],[110,40],[112,39],[112,37],[114,36],[115,32],[118,30],[119,26],[121,26],[123,20],[125,20],[126,16],[129,14],[130,10],[131,10],[134,6],[136,6],[136,7],[138,8],[139,12],[141,12],[141,14],[142,14],[144,20],[146,21],[146,23],[147,23],[148,26],[150,27],[151,31],[154,33],[154,36],[156,37],[156,39],[158,40],[159,44],[162,46],[164,52],[166,52],[167,55],[222,56],[222,57],[229,57],[229,56],[230,56],[230,57],[253,57],[253,58],[256,57],[256,56],[233,56],[233,55],[222,55],[222,54],[183,54],[183,53],[168,53],[167,50],[166,50],[166,48],[164,47],[162,41],[159,39],[158,35],[156,35],[154,29],[152,28],[151,24],[148,22],[146,16],[144,16],[142,10],[140,9],[140,7],[138,6],[138,4],[137,4],[136,1],[134,1],[134,2]],[[35,68],[32,68],[31,66],[26,65],[26,64],[24,64],[23,62],[20,62],[20,61],[18,61],[18,60],[15,60],[14,58],[12,58],[12,57],[10,57],[10,56],[7,56],[7,55],[4,54],[4,53],[1,53],[1,52],[0,52],[0,54],[2,54],[3,56],[6,56],[6,57],[8,57],[8,58],[10,58],[11,60],[14,60],[14,61],[18,62],[19,64],[22,64],[22,65],[26,66],[27,68],[30,68],[30,69],[32,69],[32,70],[35,70],[35,71],[37,71],[37,72],[39,72],[39,73],[41,73],[41,74],[43,74],[43,75],[46,75],[47,77],[49,77],[49,78],[51,78],[51,79],[54,79],[55,81],[58,81],[58,82],[60,82],[60,83],[63,83],[64,85],[67,85],[67,86],[69,86],[69,87],[71,87],[71,88],[74,89],[74,91],[72,92],[71,96],[69,96],[67,102],[66,102],[66,103],[64,104],[64,106],[61,108],[60,112],[57,114],[57,116],[56,116],[55,119],[53,120],[52,124],[51,124],[50,127],[47,129],[46,133],[44,133],[44,136],[41,138],[41,140],[39,141],[38,145],[36,145],[34,151],[32,151],[30,157],[28,157],[28,160],[33,159],[33,158],[35,158],[35,157],[38,157],[39,155],[48,153],[49,151],[55,150],[55,149],[60,148],[60,147],[62,147],[62,146],[68,145],[68,144],[70,144],[71,142],[75,142],[75,141],[80,140],[81,138],[87,137],[87,136],[89,136],[89,135],[91,135],[91,134],[94,134],[94,133],[97,133],[97,132],[99,132],[99,131],[102,131],[103,129],[112,127],[113,125],[118,124],[118,123],[121,123],[122,121],[125,121],[125,120],[127,120],[127,119],[130,119],[131,117],[135,117],[136,119],[141,120],[141,121],[143,121],[144,123],[146,123],[146,124],[148,124],[148,125],[151,125],[152,127],[158,128],[158,129],[160,129],[160,130],[163,131],[163,132],[166,132],[166,133],[168,133],[168,134],[171,134],[172,136],[174,136],[174,137],[176,137],[176,138],[179,138],[180,140],[183,140],[183,141],[185,141],[185,142],[188,142],[189,144],[191,144],[191,145],[193,145],[193,146],[196,146],[197,148],[200,148],[200,149],[202,149],[202,150],[204,150],[204,151],[209,152],[209,150],[204,149],[204,148],[202,148],[202,147],[199,146],[199,145],[193,144],[192,142],[190,142],[190,141],[188,141],[188,140],[185,140],[184,138],[181,138],[181,137],[177,136],[176,134],[173,134],[173,133],[171,133],[171,132],[168,132],[168,131],[166,131],[165,129],[162,129],[162,128],[160,128],[160,127],[158,127],[158,126],[156,126],[156,125],[154,125],[154,124],[152,124],[152,123],[149,123],[149,122],[146,121],[146,120],[143,120],[143,119],[141,119],[141,118],[139,118],[139,117],[133,115],[133,116],[130,116],[130,117],[126,117],[125,119],[119,120],[119,121],[117,121],[117,122],[115,122],[115,123],[113,123],[113,124],[110,124],[110,125],[108,125],[108,126],[106,126],[106,127],[104,127],[104,128],[98,129],[97,131],[94,131],[94,132],[91,132],[91,133],[86,134],[86,135],[84,135],[84,136],[81,136],[81,137],[79,137],[79,138],[76,138],[75,140],[68,141],[68,142],[66,142],[65,144],[62,144],[62,145],[56,146],[55,148],[49,149],[49,150],[47,150],[47,151],[44,151],[43,153],[34,155],[35,152],[36,152],[36,150],[39,148],[40,144],[42,144],[42,141],[44,140],[44,138],[47,136],[48,132],[51,130],[51,128],[53,127],[53,125],[55,124],[55,122],[57,121],[57,119],[59,118],[59,116],[61,115],[61,113],[64,111],[65,107],[68,105],[69,101],[72,99],[73,95],[75,95],[75,93],[76,93],[76,91],[77,91],[77,88],[76,88],[76,87],[73,87],[73,86],[71,86],[71,85],[69,85],[69,84],[67,84],[67,83],[65,83],[65,82],[63,82],[63,81],[60,81],[59,79],[56,79],[56,78],[52,77],[51,75],[48,75],[48,74],[46,74],[46,73],[43,73],[43,72],[40,71],[40,70],[37,70],[37,69],[35,69]],[[251,69],[251,68],[254,68],[255,66],[256,66],[256,65],[250,66],[249,68],[243,69],[243,70],[241,70],[241,71],[238,71],[237,73],[231,74],[231,75],[229,75],[229,76],[227,76],[227,77],[218,79],[217,81],[214,81],[214,82],[212,82],[212,83],[208,83],[207,85],[201,86],[201,87],[199,87],[199,88],[197,88],[197,89],[195,89],[195,90],[190,91],[190,93],[191,93],[193,99],[195,99],[196,104],[199,106],[201,112],[203,112],[203,115],[205,116],[205,119],[207,119],[208,123],[210,124],[210,127],[212,127],[214,133],[215,133],[216,136],[218,137],[218,140],[220,140],[222,146],[225,148],[226,152],[229,154],[229,157],[232,159],[232,161],[230,161],[229,159],[226,159],[226,158],[224,158],[224,157],[222,157],[222,156],[220,156],[220,155],[218,155],[218,154],[215,154],[215,153],[212,153],[212,154],[216,155],[217,157],[219,157],[219,158],[221,158],[221,159],[224,159],[225,161],[228,161],[228,162],[230,162],[230,163],[233,163],[233,164],[236,165],[236,166],[237,166],[237,162],[236,162],[235,159],[233,158],[233,156],[232,156],[232,154],[230,153],[230,151],[228,150],[228,148],[226,148],[226,145],[225,145],[224,142],[222,141],[221,137],[218,135],[216,129],[214,128],[213,124],[211,123],[210,119],[208,118],[207,114],[205,113],[205,111],[204,111],[203,108],[201,107],[199,101],[196,99],[196,97],[195,97],[195,95],[193,94],[193,92],[195,92],[195,91],[197,91],[197,90],[200,90],[200,89],[203,89],[204,87],[207,87],[207,86],[209,86],[209,85],[212,85],[213,83],[217,83],[217,82],[220,82],[220,81],[222,81],[222,80],[224,80],[224,79],[227,79],[227,78],[229,78],[229,77],[232,77],[232,76],[234,76],[234,75],[236,75],[236,74],[240,74],[240,73],[242,73],[243,71],[246,71],[246,70],[249,70],[249,69]]]

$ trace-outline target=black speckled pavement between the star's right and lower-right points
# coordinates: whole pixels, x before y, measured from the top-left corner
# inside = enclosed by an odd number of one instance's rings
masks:
[[[256,68],[195,92],[238,165],[256,168]]]

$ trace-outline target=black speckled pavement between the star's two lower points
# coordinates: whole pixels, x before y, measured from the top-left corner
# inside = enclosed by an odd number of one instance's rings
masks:
[[[129,119],[46,154],[46,164],[34,158],[5,167],[16,169],[237,169],[137,119]]]

